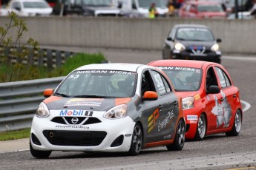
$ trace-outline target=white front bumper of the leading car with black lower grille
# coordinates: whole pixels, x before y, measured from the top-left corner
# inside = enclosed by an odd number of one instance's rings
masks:
[[[42,151],[128,152],[135,126],[130,117],[88,125],[64,125],[33,118],[30,143]],[[122,128],[120,128],[122,127]]]

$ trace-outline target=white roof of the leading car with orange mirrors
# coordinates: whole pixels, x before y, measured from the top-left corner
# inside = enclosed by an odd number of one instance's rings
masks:
[[[111,64],[88,64],[77,68],[76,70],[85,69],[109,69],[109,70],[122,70],[128,72],[137,72],[139,67],[149,67],[143,64],[125,64],[125,63],[111,63]]]

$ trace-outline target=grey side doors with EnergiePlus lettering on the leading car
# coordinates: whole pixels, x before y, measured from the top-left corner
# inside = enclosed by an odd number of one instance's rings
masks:
[[[156,101],[144,101],[143,103],[143,107],[147,109],[142,112],[142,122],[148,125],[145,127],[145,143],[154,144],[170,140],[174,137],[179,116],[178,98],[160,72],[147,70],[144,74],[151,88],[145,89],[145,81],[142,80],[142,93],[149,90],[157,92],[158,95]]]

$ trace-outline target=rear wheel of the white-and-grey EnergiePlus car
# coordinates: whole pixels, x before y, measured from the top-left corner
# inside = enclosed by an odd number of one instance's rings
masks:
[[[167,145],[168,151],[181,151],[185,143],[186,125],[184,120],[180,119],[176,128],[174,143]]]

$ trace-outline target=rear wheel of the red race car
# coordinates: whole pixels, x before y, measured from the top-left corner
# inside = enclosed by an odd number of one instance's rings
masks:
[[[232,130],[226,132],[226,136],[237,136],[239,135],[240,129],[242,126],[242,113],[240,110],[237,110],[234,117],[234,124],[232,126]]]

